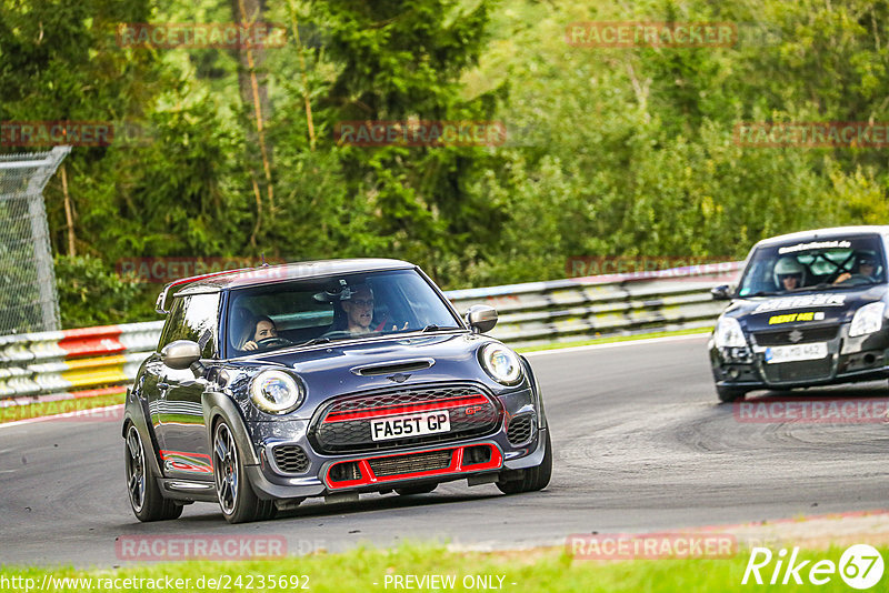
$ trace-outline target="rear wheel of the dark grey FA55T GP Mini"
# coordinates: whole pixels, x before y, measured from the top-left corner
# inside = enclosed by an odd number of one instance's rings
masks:
[[[127,441],[123,444],[123,469],[127,475],[127,491],[130,506],[136,519],[142,522],[167,521],[178,519],[182,514],[182,505],[164,499],[158,486],[158,479],[151,472],[146,459],[142,436],[130,424],[127,429]]]

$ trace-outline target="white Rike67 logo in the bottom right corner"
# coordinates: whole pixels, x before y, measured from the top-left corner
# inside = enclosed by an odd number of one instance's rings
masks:
[[[790,557],[783,547],[778,554],[772,554],[768,547],[753,547],[741,584],[801,585],[808,581],[812,585],[823,585],[839,573],[850,587],[865,590],[879,583],[882,572],[882,556],[876,547],[867,544],[849,546],[840,556],[839,565],[830,560],[801,560],[799,547],[793,547]]]

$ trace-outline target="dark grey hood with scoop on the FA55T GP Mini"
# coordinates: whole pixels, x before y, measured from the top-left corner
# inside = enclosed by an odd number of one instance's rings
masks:
[[[296,372],[306,386],[306,403],[300,406],[299,415],[310,413],[318,404],[338,395],[379,389],[410,389],[432,382],[473,381],[497,392],[507,388],[491,380],[478,362],[478,350],[488,342],[496,340],[470,333],[447,333],[286,350],[229,361],[231,370],[241,371],[231,386],[239,391],[260,370],[287,368]],[[423,369],[401,370],[398,366],[421,361],[431,364]],[[372,368],[370,372],[368,368]]]

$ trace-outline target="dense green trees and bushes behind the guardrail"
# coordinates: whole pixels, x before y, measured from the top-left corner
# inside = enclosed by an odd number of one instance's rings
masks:
[[[253,52],[252,79],[237,50],[114,34],[242,20],[244,4],[290,33]],[[151,319],[157,284],[133,294],[96,268],[128,258],[394,257],[446,288],[561,278],[576,255],[739,258],[780,232],[887,221],[883,150],[733,138],[742,121],[889,121],[887,17],[882,0],[0,0],[0,121],[131,132],[66,163],[90,258],[59,261],[66,325]],[[567,43],[583,21],[730,22],[739,40]],[[356,147],[333,133],[404,119],[502,121],[508,138]],[[59,179],[46,197],[67,254]],[[118,288],[96,301],[70,288],[87,270]]]

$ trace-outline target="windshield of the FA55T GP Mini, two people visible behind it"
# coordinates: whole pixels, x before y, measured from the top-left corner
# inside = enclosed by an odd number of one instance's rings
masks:
[[[229,356],[354,338],[461,329],[414,270],[343,274],[233,290]]]

